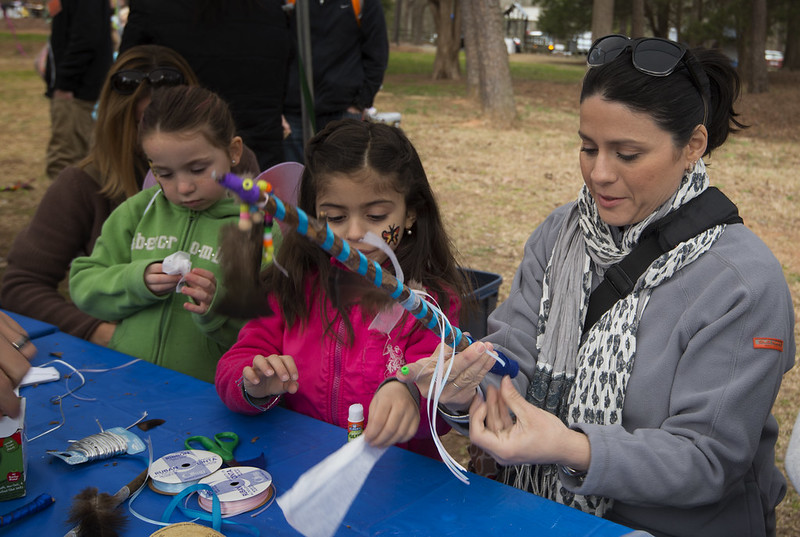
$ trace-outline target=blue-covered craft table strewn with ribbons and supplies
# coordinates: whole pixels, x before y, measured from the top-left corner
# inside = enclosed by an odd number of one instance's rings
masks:
[[[39,355],[36,365],[60,359],[74,367],[108,368],[124,364],[129,356],[95,346],[63,332],[36,340]],[[63,366],[56,366],[66,372]],[[56,503],[46,510],[10,526],[15,535],[63,535],[72,497],[87,486],[115,493],[137,476],[146,463],[134,456],[70,466],[45,451],[64,450],[70,440],[98,432],[95,420],[104,428],[127,427],[144,411],[148,419],[166,420],[145,433],[131,430],[153,442],[153,456],[183,449],[189,435],[213,436],[221,431],[239,434],[238,460],[264,454],[267,470],[278,495],[288,490],[308,468],[341,447],[347,438],[344,429],[282,408],[258,416],[243,416],[229,411],[219,401],[211,384],[163,369],[147,362],[103,373],[85,373],[86,384],[75,395],[64,399],[65,424],[58,430],[30,442],[28,448],[28,496],[0,503],[0,514],[11,511],[48,493]],[[75,386],[75,375],[69,386]],[[53,395],[66,391],[65,381],[23,388],[27,398],[29,438],[60,420],[58,407],[49,402]],[[536,536],[620,536],[630,530],[580,511],[539,498],[477,475],[471,484],[458,481],[440,461],[399,448],[390,448],[378,461],[337,536],[360,535],[499,535]],[[146,488],[134,502],[136,511],[160,519],[171,498]],[[197,508],[196,500],[190,505]],[[127,510],[126,510],[127,512]],[[158,529],[130,514],[129,529],[123,535],[148,536]],[[173,522],[183,521],[176,513]],[[297,536],[273,503],[256,518],[245,513],[233,520],[257,526],[262,535]],[[229,536],[244,535],[241,530],[223,526]]]

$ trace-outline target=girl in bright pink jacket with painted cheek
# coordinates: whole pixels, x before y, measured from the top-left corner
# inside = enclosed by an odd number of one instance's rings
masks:
[[[425,170],[400,129],[329,124],[309,141],[298,206],[391,271],[382,248],[360,242],[367,232],[381,237],[406,285],[424,288],[456,323],[466,283]],[[249,321],[220,359],[215,384],[222,401],[247,414],[280,401],[340,427],[347,427],[350,405],[361,403],[371,445],[399,444],[436,457],[419,392],[394,381],[404,364],[430,356],[439,337],[295,233],[261,278],[274,313]]]

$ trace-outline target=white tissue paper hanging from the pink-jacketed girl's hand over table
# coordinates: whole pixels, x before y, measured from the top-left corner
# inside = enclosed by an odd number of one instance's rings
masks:
[[[306,471],[276,500],[286,521],[305,537],[331,537],[385,451],[360,436]]]

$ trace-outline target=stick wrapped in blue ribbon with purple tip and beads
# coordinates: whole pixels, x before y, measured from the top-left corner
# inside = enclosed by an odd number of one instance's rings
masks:
[[[438,313],[429,307],[429,304],[421,299],[416,292],[403,285],[392,274],[385,272],[377,262],[367,259],[357,248],[351,247],[349,242],[334,234],[327,223],[308,216],[299,207],[283,203],[271,193],[272,188],[267,181],[253,181],[233,173],[226,173],[218,181],[242,200],[241,218],[253,215],[259,209],[264,210],[267,214],[284,222],[317,244],[349,270],[360,274],[372,282],[375,287],[388,293],[391,298],[398,301],[406,311],[411,313],[417,321],[437,336],[443,337],[444,342],[457,352],[463,351],[473,342],[472,338],[464,334],[459,328],[452,326],[449,322],[444,323],[444,333],[442,334]],[[247,205],[248,210],[244,210],[244,205]],[[246,229],[246,224],[240,224],[240,229]],[[271,254],[270,252],[270,257]],[[496,362],[491,369],[492,373],[509,375],[512,378],[517,375],[519,365],[515,361],[505,356],[500,357],[496,353],[492,354]]]

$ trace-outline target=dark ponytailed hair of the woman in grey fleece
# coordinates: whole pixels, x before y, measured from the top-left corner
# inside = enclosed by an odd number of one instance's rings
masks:
[[[741,82],[722,52],[712,49],[692,49],[686,61],[695,65],[708,79],[709,103],[708,145],[703,156],[721,146],[728,134],[745,128],[733,110],[739,98]],[[705,81],[700,81],[705,85]],[[705,107],[685,63],[669,76],[651,76],[638,71],[631,59],[630,49],[606,64],[592,67],[583,79],[581,102],[600,95],[603,99],[623,104],[634,111],[649,114],[662,129],[672,134],[676,147],[689,142],[695,127],[703,123]]]

